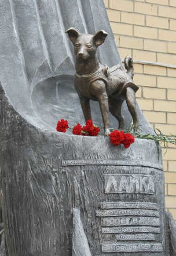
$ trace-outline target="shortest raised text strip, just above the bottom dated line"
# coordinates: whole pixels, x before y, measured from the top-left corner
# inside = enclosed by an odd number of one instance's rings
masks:
[[[117,241],[155,240],[154,234],[120,234],[116,235]]]

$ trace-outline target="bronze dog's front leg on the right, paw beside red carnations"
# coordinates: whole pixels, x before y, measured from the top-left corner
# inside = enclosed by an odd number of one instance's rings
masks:
[[[98,96],[99,106],[103,117],[105,136],[110,134],[110,121],[109,121],[109,104],[108,96],[106,92],[103,92]]]

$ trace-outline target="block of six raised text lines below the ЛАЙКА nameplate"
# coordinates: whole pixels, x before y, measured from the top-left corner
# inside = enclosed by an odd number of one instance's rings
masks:
[[[96,216],[101,218],[102,252],[162,252],[161,244],[142,244],[142,241],[156,241],[155,233],[161,232],[156,203],[102,202],[100,206],[102,210],[96,210]],[[117,243],[108,241],[106,244],[105,234],[115,234]],[[141,241],[141,244],[120,244],[118,241]]]

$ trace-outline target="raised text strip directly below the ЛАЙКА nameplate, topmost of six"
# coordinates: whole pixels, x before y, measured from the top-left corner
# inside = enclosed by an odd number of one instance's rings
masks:
[[[139,208],[139,209],[153,209],[157,210],[156,203],[143,203],[143,202],[103,202],[101,209],[114,209],[114,208]]]

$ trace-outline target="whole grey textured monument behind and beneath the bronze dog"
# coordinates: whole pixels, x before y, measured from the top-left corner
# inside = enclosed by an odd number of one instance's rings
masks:
[[[106,31],[99,61],[123,70],[103,1],[6,0],[0,16],[1,255],[176,255],[155,141],[125,149],[55,130],[61,118],[84,123],[67,29]],[[91,110],[103,126],[97,102]],[[125,101],[122,113],[129,128]],[[154,134],[137,103],[136,113],[140,131]],[[118,127],[113,116],[110,126]]]

